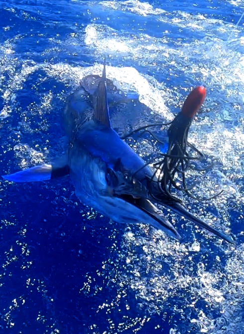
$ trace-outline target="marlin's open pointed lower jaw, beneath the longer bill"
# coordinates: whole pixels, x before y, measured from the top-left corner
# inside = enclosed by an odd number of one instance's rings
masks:
[[[144,213],[144,216],[147,217],[147,221],[141,221],[141,223],[148,223],[154,228],[162,230],[175,239],[181,239],[180,234],[174,226],[166,219],[163,213],[150,202],[149,199],[143,197],[135,198],[127,194],[120,194],[117,195],[117,197],[133,205],[135,208]]]

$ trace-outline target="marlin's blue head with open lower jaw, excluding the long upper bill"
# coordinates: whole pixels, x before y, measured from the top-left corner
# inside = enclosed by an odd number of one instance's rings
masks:
[[[101,101],[97,103],[102,106]],[[76,195],[115,222],[148,223],[180,239],[174,226],[147,198],[147,179],[152,171],[111,128],[108,114],[101,115],[102,107],[94,109],[97,118],[79,128],[69,148]]]

